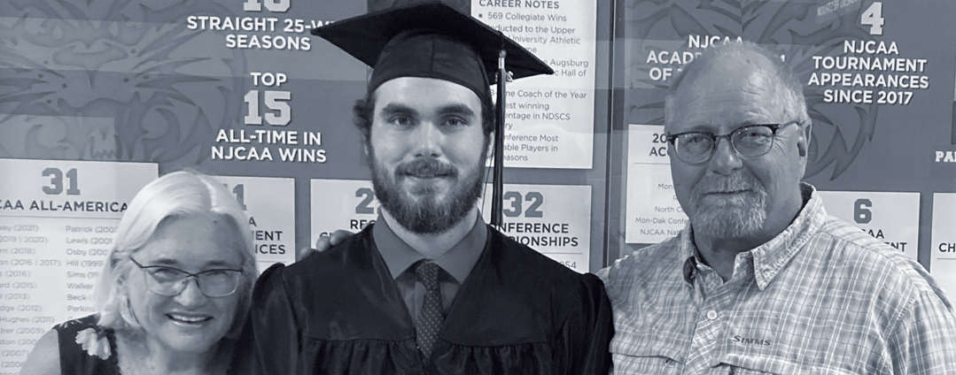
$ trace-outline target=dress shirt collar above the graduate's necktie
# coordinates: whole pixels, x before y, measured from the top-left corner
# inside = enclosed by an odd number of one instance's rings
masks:
[[[397,279],[408,267],[419,260],[424,260],[424,257],[400,239],[388,225],[388,222],[379,215],[379,219],[376,219],[372,226],[372,237],[392,278]],[[488,225],[485,225],[481,215],[478,215],[478,219],[475,220],[474,226],[465,238],[432,261],[442,267],[455,281],[463,283],[478,261],[478,257],[485,250],[486,240],[488,240]]]

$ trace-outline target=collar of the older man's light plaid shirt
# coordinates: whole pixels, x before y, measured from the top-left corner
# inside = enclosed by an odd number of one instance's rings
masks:
[[[813,185],[801,182],[800,194],[803,196],[803,208],[783,232],[751,249],[748,252],[750,255],[745,253],[737,255],[737,261],[740,261],[742,257],[752,257],[753,275],[760,290],[770,285],[773,278],[793,259],[793,256],[810,240],[811,235],[823,225],[826,219],[823,200],[819,194],[816,194]],[[681,259],[684,260],[684,281],[691,285],[697,274],[697,264],[703,263],[693,239],[693,229],[690,221],[687,221],[684,231],[681,232]]]

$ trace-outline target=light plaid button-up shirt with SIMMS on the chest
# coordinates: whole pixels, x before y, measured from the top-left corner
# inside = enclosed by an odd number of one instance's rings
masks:
[[[675,238],[602,269],[619,374],[956,374],[956,317],[923,267],[830,217],[793,223],[724,282]]]

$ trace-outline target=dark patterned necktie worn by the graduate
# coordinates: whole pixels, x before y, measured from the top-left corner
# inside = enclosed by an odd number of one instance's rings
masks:
[[[431,359],[431,349],[442,328],[442,295],[438,290],[438,264],[422,260],[415,274],[424,284],[424,302],[415,322],[415,342],[419,345],[425,363]]]

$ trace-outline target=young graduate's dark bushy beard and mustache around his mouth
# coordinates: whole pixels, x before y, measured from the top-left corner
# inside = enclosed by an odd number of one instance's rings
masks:
[[[423,235],[442,234],[459,223],[482,193],[482,171],[485,157],[480,164],[461,174],[451,165],[434,158],[418,158],[400,164],[395,176],[389,176],[387,168],[379,163],[374,153],[372,161],[372,186],[375,196],[388,213],[402,227],[412,233]],[[435,186],[422,184],[413,191],[404,191],[402,180],[407,177],[445,177],[455,182],[444,197],[437,195]]]

